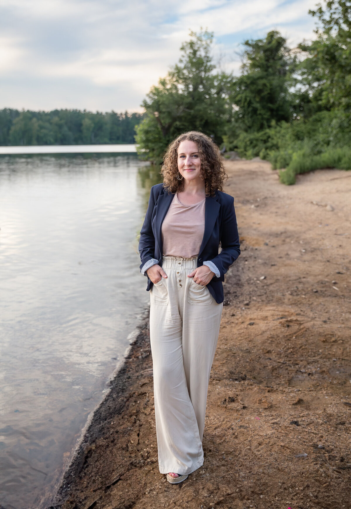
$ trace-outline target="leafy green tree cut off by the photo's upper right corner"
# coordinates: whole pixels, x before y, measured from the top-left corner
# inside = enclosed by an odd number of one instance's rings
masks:
[[[300,64],[302,85],[315,109],[351,109],[351,2],[331,0],[309,11],[318,18],[317,39],[299,45],[309,56]]]

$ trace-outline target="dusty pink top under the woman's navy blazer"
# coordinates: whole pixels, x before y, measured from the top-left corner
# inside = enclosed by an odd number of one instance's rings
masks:
[[[161,226],[164,256],[198,256],[205,231],[205,200],[183,205],[175,193]]]

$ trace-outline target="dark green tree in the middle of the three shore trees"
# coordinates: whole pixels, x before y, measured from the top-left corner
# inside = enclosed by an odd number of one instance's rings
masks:
[[[244,42],[242,75],[231,84],[236,129],[257,132],[272,122],[289,121],[292,98],[289,84],[294,66],[291,50],[279,32]]]

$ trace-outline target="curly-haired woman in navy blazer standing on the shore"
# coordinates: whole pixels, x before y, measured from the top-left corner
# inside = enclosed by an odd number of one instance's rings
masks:
[[[203,464],[222,281],[240,249],[234,199],[222,192],[226,174],[208,136],[178,136],[161,174],[163,184],[151,188],[139,251],[150,290],[159,471],[177,484]]]

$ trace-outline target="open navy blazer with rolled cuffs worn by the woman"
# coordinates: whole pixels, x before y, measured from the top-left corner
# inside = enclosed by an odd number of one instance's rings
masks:
[[[162,235],[161,224],[174,198],[163,184],[151,187],[149,206],[145,221],[140,232],[139,252],[143,268],[152,258],[162,266]],[[222,251],[218,253],[221,242]],[[236,224],[234,198],[223,191],[215,191],[215,196],[206,196],[205,200],[205,231],[201,242],[197,265],[211,261],[218,267],[221,276],[214,276],[207,288],[219,304],[223,302],[224,274],[240,254],[239,235]],[[146,272],[145,272],[145,275]],[[148,277],[147,291],[153,283]]]

